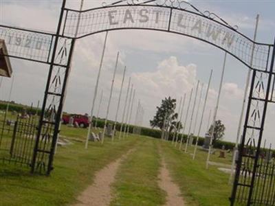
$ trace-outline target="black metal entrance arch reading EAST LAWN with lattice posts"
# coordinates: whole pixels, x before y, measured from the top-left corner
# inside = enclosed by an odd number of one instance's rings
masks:
[[[53,170],[75,41],[113,30],[170,32],[209,43],[252,69],[243,138],[230,200],[231,205],[236,201],[247,205],[274,205],[269,195],[257,196],[262,194],[260,190],[265,193],[274,185],[265,185],[261,189],[263,183],[258,175],[262,172],[259,157],[267,104],[275,101],[274,43],[256,43],[217,14],[201,12],[187,1],[120,0],[82,11],[66,8],[65,4],[63,0],[56,34],[0,25],[0,38],[8,48],[5,56],[50,65],[32,161],[28,163],[32,172],[50,174]],[[274,181],[272,176],[268,178]],[[273,193],[270,195],[274,196]]]

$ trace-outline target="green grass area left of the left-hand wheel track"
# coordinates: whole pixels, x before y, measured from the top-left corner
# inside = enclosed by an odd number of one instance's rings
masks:
[[[133,148],[136,141],[131,137],[111,143],[108,138],[104,145],[90,143],[88,150],[74,141],[58,148],[51,176],[33,176],[29,169],[0,163],[0,205],[70,205],[92,183],[96,171]]]

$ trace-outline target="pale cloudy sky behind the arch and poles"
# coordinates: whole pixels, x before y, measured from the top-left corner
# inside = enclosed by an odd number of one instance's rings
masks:
[[[239,32],[250,38],[253,38],[256,14],[260,14],[257,41],[262,43],[273,42],[275,35],[275,1],[194,0],[190,2],[202,11],[215,12],[228,23],[238,25]],[[61,3],[59,0],[0,0],[0,23],[54,32]],[[68,1],[67,8],[79,8],[79,3],[80,1],[76,0]],[[86,0],[84,8],[98,7],[101,3],[101,0]],[[104,33],[100,33],[82,38],[77,42],[72,73],[69,78],[65,111],[90,113],[103,41]],[[137,107],[137,99],[140,99],[145,110],[144,126],[149,126],[149,119],[153,118],[155,107],[160,104],[163,98],[170,95],[179,101],[184,93],[187,93],[188,98],[190,90],[195,87],[197,80],[204,83],[204,97],[210,70],[213,69],[214,73],[201,135],[206,132],[210,109],[213,111],[217,100],[224,52],[207,43],[177,34],[146,30],[110,32],[100,79],[100,91],[103,90],[104,93],[100,117],[106,115],[111,76],[118,51],[120,52],[120,61],[118,73],[115,77],[110,119],[115,117],[124,65],[127,67],[124,85],[131,76],[136,89],[134,111]],[[12,100],[22,104],[31,104],[31,102],[36,104],[38,100],[42,100],[48,67],[23,60],[12,59],[11,62],[14,69]],[[247,72],[248,69],[238,60],[228,56],[217,115],[217,118],[225,124],[225,140],[228,141],[236,139],[236,128],[241,111]],[[10,83],[10,79],[3,79],[0,88],[0,99],[8,99]],[[124,87],[122,102],[124,102],[125,93],[126,88]],[[96,104],[97,108],[98,102]],[[120,111],[122,111],[122,108],[120,108]],[[267,112],[264,137],[268,143],[272,142],[274,144],[274,106],[270,106]],[[186,113],[186,110],[184,110],[184,113]],[[120,119],[121,115],[119,116]]]

